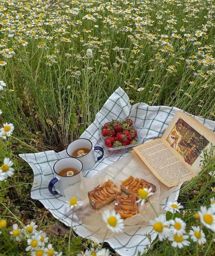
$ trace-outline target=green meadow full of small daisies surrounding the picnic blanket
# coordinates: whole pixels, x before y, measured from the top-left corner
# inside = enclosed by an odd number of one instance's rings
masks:
[[[15,174],[0,182],[0,215],[8,221],[1,255],[26,255],[24,244],[10,241],[16,218],[35,220],[57,251],[68,244],[68,230],[30,199],[32,171],[17,154],[65,149],[119,86],[131,104],[175,106],[215,120],[214,44],[214,0],[2,0],[0,123],[15,130],[0,138],[0,162],[12,159]],[[200,205],[210,205],[213,169],[208,158],[180,192],[189,225]],[[89,244],[74,235],[71,255]],[[213,255],[213,244],[200,250]],[[158,242],[150,253],[175,251]],[[190,246],[180,255],[195,253]]]

